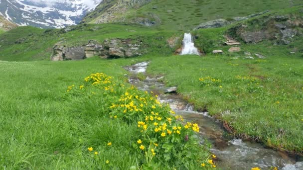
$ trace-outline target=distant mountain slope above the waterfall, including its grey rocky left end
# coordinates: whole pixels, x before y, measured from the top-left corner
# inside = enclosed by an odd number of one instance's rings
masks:
[[[218,18],[231,19],[303,4],[302,0],[104,0],[83,22],[128,22],[187,30]]]

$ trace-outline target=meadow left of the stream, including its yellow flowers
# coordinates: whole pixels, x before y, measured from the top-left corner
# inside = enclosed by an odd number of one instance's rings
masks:
[[[151,94],[125,83],[122,66],[136,62],[1,61],[0,167],[200,169],[211,158],[194,135],[196,125],[186,129]],[[91,73],[114,78],[101,77],[99,85]]]

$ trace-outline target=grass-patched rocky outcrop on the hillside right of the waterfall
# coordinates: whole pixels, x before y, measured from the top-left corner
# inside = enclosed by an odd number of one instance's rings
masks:
[[[299,35],[298,30],[302,32],[301,24],[303,24],[302,16],[263,16],[240,23],[229,29],[227,33],[245,43],[276,40],[278,44],[290,44],[293,37]]]

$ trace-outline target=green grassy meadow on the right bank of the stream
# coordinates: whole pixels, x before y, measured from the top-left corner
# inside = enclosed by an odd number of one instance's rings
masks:
[[[296,41],[290,46],[300,44]],[[268,58],[245,59],[243,52],[171,56],[153,59],[148,72],[164,74],[167,86],[177,85],[178,92],[197,110],[206,108],[211,115],[226,121],[236,135],[302,154],[302,54],[290,55],[287,46],[268,42],[241,48]],[[227,49],[223,48],[225,52]],[[236,56],[240,58],[232,59]],[[199,78],[208,76],[221,82],[202,85]]]

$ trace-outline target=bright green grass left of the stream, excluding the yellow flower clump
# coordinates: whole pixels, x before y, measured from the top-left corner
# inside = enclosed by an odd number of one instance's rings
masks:
[[[120,116],[110,118],[109,106],[120,98],[121,92],[124,94],[123,90],[106,93],[84,82],[91,73],[104,72],[123,84],[127,72],[122,66],[136,62],[98,58],[75,62],[0,62],[0,71],[5,73],[0,76],[0,167],[126,170],[147,166],[145,155],[136,146],[140,138],[146,148],[149,145],[137,127],[140,114],[131,121]],[[69,85],[85,87],[66,94]],[[141,93],[144,92],[138,95]],[[108,142],[113,145],[107,146]],[[88,147],[93,147],[98,156],[89,152]],[[196,153],[188,144],[186,147]],[[177,152],[181,154],[179,149]],[[206,160],[209,155],[202,146],[198,150],[199,153],[192,155],[193,162]],[[158,155],[153,158],[152,167],[171,169],[180,164],[177,159],[163,161],[167,154],[160,154],[161,148],[156,151]],[[182,166],[197,169],[200,163],[192,161],[182,161]]]

